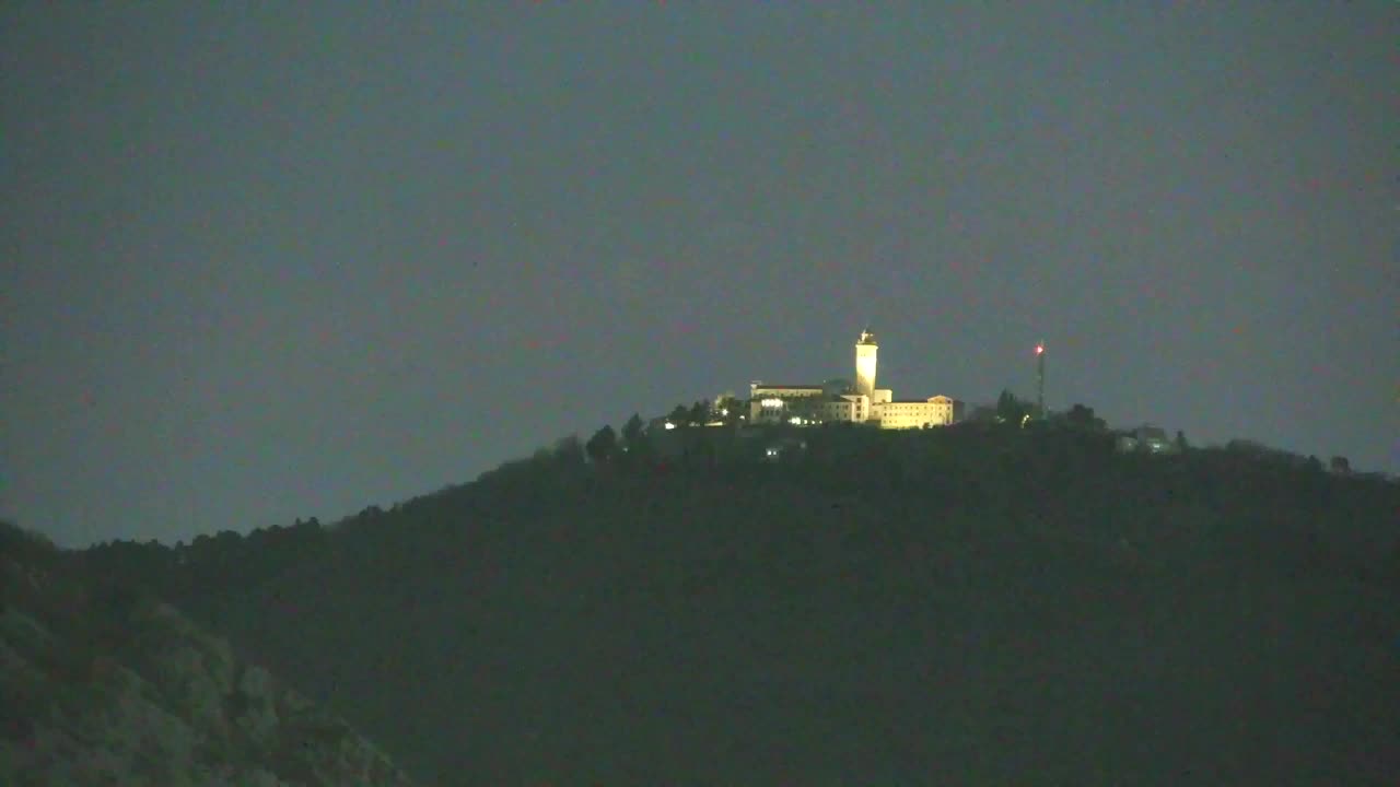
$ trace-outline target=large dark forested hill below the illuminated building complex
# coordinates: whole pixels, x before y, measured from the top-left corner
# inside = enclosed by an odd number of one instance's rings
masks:
[[[774,464],[703,434],[78,559],[431,784],[1400,773],[1393,482],[1092,430],[819,429]]]

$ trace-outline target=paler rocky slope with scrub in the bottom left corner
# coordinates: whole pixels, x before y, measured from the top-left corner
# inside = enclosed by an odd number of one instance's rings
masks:
[[[0,784],[410,784],[172,606],[0,529]]]

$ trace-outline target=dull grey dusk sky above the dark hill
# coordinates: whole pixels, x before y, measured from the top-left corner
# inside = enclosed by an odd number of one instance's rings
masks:
[[[323,522],[896,398],[1400,472],[1400,4],[7,3],[0,514]]]

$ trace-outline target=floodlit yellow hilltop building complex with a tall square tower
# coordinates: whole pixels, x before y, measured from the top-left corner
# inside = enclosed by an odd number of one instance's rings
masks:
[[[798,426],[848,422],[881,429],[925,429],[962,420],[963,403],[949,396],[895,399],[889,388],[875,388],[879,344],[862,330],[855,342],[855,382],[833,379],[820,385],[749,384],[749,423]]]

